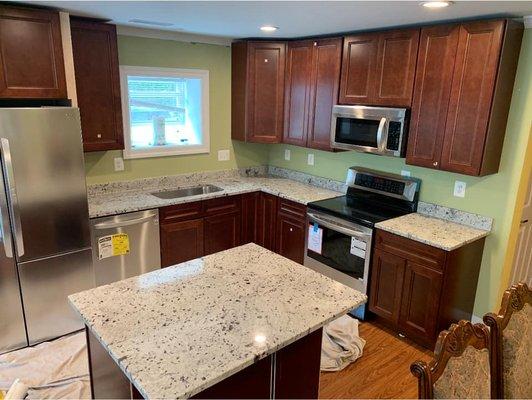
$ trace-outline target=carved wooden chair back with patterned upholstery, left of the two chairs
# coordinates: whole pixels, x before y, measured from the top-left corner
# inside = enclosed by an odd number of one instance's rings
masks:
[[[490,398],[490,338],[484,324],[469,321],[442,331],[430,363],[417,361],[419,398]]]

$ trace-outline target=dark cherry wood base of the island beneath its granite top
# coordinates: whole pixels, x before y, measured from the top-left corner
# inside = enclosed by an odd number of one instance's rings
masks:
[[[94,335],[85,328],[94,399],[142,399]],[[195,399],[317,399],[322,330],[205,389]]]

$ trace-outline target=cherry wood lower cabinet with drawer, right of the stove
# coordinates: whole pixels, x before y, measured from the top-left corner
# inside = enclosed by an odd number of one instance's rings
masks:
[[[377,229],[370,311],[433,349],[441,330],[471,319],[483,249],[484,239],[445,251]]]

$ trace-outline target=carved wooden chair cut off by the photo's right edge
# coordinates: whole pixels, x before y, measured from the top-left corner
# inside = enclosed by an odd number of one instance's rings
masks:
[[[532,398],[532,291],[525,283],[512,286],[484,323],[490,327],[495,397]]]

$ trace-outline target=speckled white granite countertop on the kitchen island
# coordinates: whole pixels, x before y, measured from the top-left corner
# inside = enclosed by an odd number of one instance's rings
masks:
[[[69,300],[145,398],[186,398],[367,298],[246,244]]]

